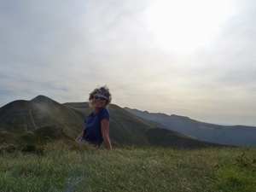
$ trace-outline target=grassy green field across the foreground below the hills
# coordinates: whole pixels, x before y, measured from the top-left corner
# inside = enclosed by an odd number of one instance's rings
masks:
[[[256,148],[2,146],[1,191],[256,191]]]

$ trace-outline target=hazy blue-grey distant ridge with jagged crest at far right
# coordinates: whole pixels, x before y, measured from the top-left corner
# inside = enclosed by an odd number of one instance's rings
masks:
[[[194,137],[210,143],[227,145],[256,146],[256,127],[245,125],[213,125],[199,122],[188,117],[167,115],[165,113],[148,113],[137,109],[125,108],[130,113],[143,119],[158,122],[165,125],[166,129],[177,131],[183,135]]]

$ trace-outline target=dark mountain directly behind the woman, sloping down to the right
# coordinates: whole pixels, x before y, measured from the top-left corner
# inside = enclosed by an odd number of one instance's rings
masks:
[[[88,103],[84,102],[64,103],[64,105],[75,108],[78,111],[86,110],[88,113],[91,110]],[[108,109],[111,114],[109,135],[115,143],[177,148],[220,146],[215,143],[202,142],[175,131],[163,129],[165,128],[164,125],[140,118],[133,113],[127,113],[126,110],[114,104],[111,104]]]

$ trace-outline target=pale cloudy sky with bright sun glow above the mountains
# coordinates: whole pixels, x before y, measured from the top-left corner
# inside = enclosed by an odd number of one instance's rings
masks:
[[[0,0],[0,107],[38,95],[256,126],[254,0]]]

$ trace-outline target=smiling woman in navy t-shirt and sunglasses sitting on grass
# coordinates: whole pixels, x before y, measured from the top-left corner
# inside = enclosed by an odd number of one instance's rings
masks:
[[[111,100],[112,96],[107,85],[96,88],[90,93],[89,105],[93,107],[93,112],[84,120],[84,131],[79,134],[77,142],[85,141],[96,146],[101,146],[103,143],[105,148],[112,149],[108,135],[110,114],[107,108]]]

